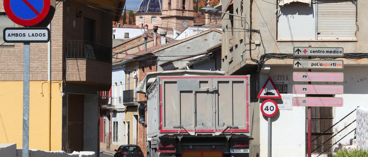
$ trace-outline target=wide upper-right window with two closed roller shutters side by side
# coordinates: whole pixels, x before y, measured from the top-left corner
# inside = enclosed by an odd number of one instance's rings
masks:
[[[292,2],[277,12],[277,40],[357,40],[355,0]],[[302,31],[301,31],[302,30]]]

